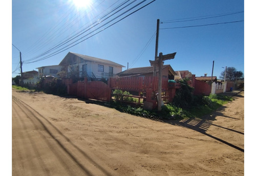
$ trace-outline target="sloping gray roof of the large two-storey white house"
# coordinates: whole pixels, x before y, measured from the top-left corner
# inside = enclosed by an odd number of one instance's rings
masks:
[[[65,56],[65,58],[62,59],[62,61],[59,63],[59,65],[66,65],[66,64],[68,64],[68,59],[71,58],[72,56],[78,56],[80,59],[86,60],[86,61],[93,61],[93,62],[98,62],[98,63],[103,63],[103,64],[115,65],[117,67],[124,67],[123,65],[118,64],[118,63],[113,62],[113,61],[110,61],[110,60],[100,59],[100,58],[97,58],[97,57],[77,54],[77,53],[73,53],[73,52],[69,52]]]

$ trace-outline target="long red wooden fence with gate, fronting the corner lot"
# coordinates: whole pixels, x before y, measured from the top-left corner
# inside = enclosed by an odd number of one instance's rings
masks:
[[[163,78],[162,91],[166,92],[168,101],[172,101],[175,96],[176,89],[179,88],[179,83],[172,83],[172,85],[168,85],[168,79]],[[88,81],[87,78],[85,78],[84,81],[69,84],[68,94],[77,95],[77,97],[85,99],[111,101],[111,91],[114,89],[146,93],[146,97],[143,98],[145,98],[147,104],[152,103],[151,106],[153,108],[156,107],[157,100],[155,94],[156,91],[158,91],[158,77],[134,76],[110,78],[108,84],[102,81]]]

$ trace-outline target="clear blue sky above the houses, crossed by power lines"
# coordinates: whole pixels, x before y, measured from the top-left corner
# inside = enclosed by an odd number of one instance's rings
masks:
[[[149,60],[154,60],[155,32],[160,19],[158,53],[177,52],[175,59],[164,64],[170,64],[175,71],[211,76],[214,61],[214,76],[218,78],[226,66],[244,73],[244,1],[147,0],[117,17],[140,0],[102,21],[105,14],[123,2],[91,0],[87,8],[78,8],[69,0],[13,0],[12,44],[22,52],[23,72],[59,64],[68,52],[108,59],[124,65],[123,70],[127,69],[127,63],[129,68],[148,67]],[[99,24],[98,19],[102,21]],[[111,22],[104,26],[108,21]],[[105,27],[109,28],[102,30]],[[83,30],[88,31],[69,42],[74,42],[74,47],[65,50],[63,47],[69,45],[66,43],[53,49]],[[84,35],[87,36],[77,42],[85,40],[77,44],[75,40]],[[20,73],[19,51],[15,47],[11,50],[12,77]]]

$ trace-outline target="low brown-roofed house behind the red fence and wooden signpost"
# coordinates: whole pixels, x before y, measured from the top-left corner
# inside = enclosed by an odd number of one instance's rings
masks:
[[[117,75],[120,77],[123,76],[153,76],[154,67],[140,67],[140,68],[133,68],[128,69],[123,72],[118,73]],[[175,71],[173,70],[170,65],[163,65],[162,67],[162,75],[168,79],[174,79],[176,75]],[[157,69],[157,76],[158,76],[158,69]]]

